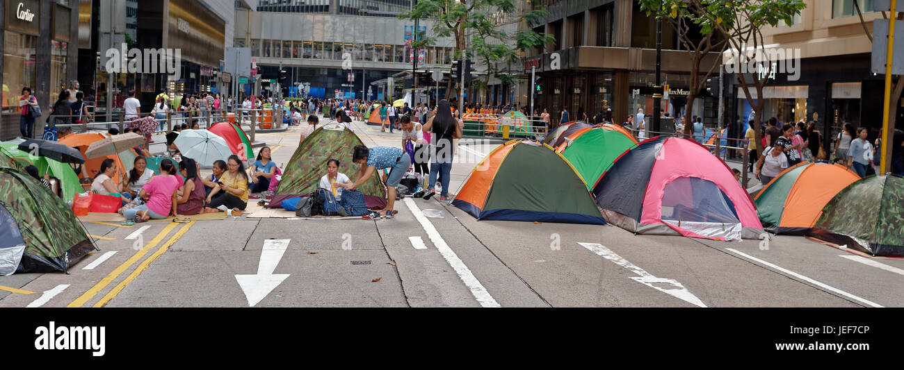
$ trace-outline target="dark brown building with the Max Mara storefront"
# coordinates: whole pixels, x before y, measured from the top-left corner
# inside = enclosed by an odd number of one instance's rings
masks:
[[[546,0],[549,16],[529,24],[536,32],[555,35],[555,42],[529,51],[519,71],[528,81],[519,88],[518,104],[528,106],[532,68],[541,78],[534,107],[548,109],[558,122],[563,109],[570,120],[579,112],[592,117],[611,112],[611,119],[624,122],[628,114],[644,108],[653,111],[656,57],[656,22],[634,0],[588,0],[575,2]],[[662,108],[670,116],[683,116],[690,88],[691,59],[682,51],[678,36],[669,23],[662,26],[662,82],[669,85],[669,97]],[[702,60],[701,69],[719,63],[719,54]],[[692,106],[694,116],[707,123],[717,117],[718,99],[705,89]],[[671,127],[649,127],[671,131]]]

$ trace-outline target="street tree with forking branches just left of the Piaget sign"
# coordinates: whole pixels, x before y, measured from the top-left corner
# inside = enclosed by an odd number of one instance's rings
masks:
[[[791,25],[791,20],[806,5],[804,0],[705,0],[703,5],[706,12],[701,14],[702,31],[720,32],[728,42],[727,46],[733,49],[733,58],[728,62],[735,63],[735,66],[747,66],[747,70],[737,70],[735,77],[748,104],[754,109],[753,122],[749,125],[756,132],[754,144],[761,153],[764,148],[759,123],[762,122],[766,100],[754,98],[751,91],[756,91],[757,97],[763,97],[763,88],[772,72],[771,60],[765,60],[768,53],[764,52],[763,30],[782,22]],[[751,69],[758,69],[759,73],[743,73],[752,72]]]

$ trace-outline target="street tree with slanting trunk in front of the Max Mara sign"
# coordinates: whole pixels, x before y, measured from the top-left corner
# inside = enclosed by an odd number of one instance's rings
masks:
[[[708,65],[702,65],[703,60],[710,56],[711,52],[721,53],[726,45],[726,38],[721,32],[714,32],[712,25],[709,24],[709,18],[705,16],[708,3],[707,0],[640,1],[640,8],[646,11],[647,16],[654,14],[673,27],[678,41],[691,60],[690,91],[687,96],[687,108],[684,110],[684,121],[688,123],[684,125],[685,137],[690,137],[693,133],[691,121],[693,102],[706,80],[710,79],[713,71],[721,65],[720,58]]]

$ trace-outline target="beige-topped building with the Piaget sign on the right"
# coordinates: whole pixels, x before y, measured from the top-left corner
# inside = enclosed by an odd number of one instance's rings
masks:
[[[853,0],[805,3],[792,25],[782,23],[763,32],[770,48],[799,51],[801,60],[794,73],[779,70],[768,77],[762,119],[776,117],[782,124],[815,121],[829,149],[844,124],[869,128],[874,140],[882,127],[885,76],[871,72],[872,42]],[[882,14],[872,11],[871,0],[859,0],[859,5],[865,30],[873,32],[872,21]],[[732,134],[739,135],[752,118],[751,108],[737,80],[730,82],[727,101],[734,103],[730,112],[741,124],[731,127]],[[898,128],[904,127],[902,102],[891,104],[898,106]]]

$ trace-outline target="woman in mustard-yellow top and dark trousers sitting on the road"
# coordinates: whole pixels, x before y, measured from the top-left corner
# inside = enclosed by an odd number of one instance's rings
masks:
[[[207,195],[204,212],[219,212],[221,208],[227,215],[241,216],[241,211],[248,207],[248,175],[239,156],[235,154],[229,156],[226,168],[228,170],[217,181],[218,187]]]

